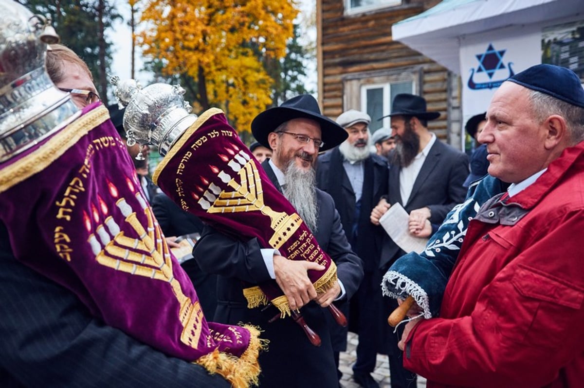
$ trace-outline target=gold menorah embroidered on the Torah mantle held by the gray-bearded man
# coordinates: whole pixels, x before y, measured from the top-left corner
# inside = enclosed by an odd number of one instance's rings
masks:
[[[235,162],[235,160],[239,161]],[[274,234],[268,241],[270,246],[276,249],[280,248],[287,241],[288,237],[294,234],[298,227],[300,227],[302,219],[297,213],[286,214],[283,211],[274,211],[263,202],[262,180],[260,179],[258,168],[252,160],[249,160],[249,156],[243,151],[240,151],[228,165],[237,172],[239,182],[227,174],[227,172],[223,170],[219,171],[217,174],[218,177],[234,191],[224,190],[218,196],[213,194],[209,195],[210,193],[207,191],[205,197],[212,199],[213,204],[206,206],[205,209],[208,213],[261,211],[262,214],[270,217],[270,227],[274,231]],[[217,186],[211,185],[210,189],[217,191]],[[201,201],[199,203],[201,204]]]

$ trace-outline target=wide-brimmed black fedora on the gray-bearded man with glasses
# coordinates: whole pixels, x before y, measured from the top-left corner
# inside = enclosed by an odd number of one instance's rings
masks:
[[[283,122],[295,118],[308,118],[320,124],[322,141],[324,142],[320,149],[321,151],[336,147],[349,137],[349,134],[342,126],[321,114],[317,100],[310,94],[300,94],[300,96],[284,101],[279,107],[270,108],[257,115],[252,121],[253,137],[262,146],[270,148],[267,135],[270,132],[274,132]]]

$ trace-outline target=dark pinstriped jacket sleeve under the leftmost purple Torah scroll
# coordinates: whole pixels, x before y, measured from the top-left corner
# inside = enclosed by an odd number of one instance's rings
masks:
[[[89,315],[14,257],[0,223],[0,387],[230,387]]]

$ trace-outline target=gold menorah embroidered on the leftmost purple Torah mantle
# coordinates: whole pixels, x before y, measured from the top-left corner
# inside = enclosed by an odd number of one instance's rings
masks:
[[[120,231],[113,217],[107,217],[107,231],[103,225],[99,225],[96,228],[99,240],[91,234],[88,242],[99,264],[131,275],[169,283],[180,304],[179,319],[183,326],[180,341],[196,349],[201,336],[203,311],[199,301],[192,303],[183,293],[179,281],[173,276],[171,253],[152,210],[140,192],[135,196],[147,217],[146,229],[124,198],[117,200],[116,205],[126,217],[124,221],[137,233],[137,238]]]

